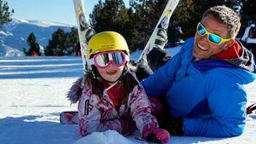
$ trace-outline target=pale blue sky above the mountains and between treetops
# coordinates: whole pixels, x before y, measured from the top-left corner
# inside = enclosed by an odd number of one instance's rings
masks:
[[[4,0],[10,9],[15,10],[13,17],[25,20],[47,20],[76,25],[73,0]],[[129,0],[124,0],[127,6]],[[91,14],[98,0],[84,0],[85,14]]]

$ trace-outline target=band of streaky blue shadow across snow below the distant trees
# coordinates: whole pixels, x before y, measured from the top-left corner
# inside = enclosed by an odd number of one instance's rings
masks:
[[[82,74],[81,57],[0,57],[0,79],[67,78]]]

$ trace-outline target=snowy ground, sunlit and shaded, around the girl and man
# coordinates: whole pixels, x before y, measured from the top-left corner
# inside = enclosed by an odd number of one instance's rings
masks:
[[[133,57],[136,55],[132,55]],[[59,124],[62,111],[76,110],[67,89],[82,74],[80,57],[0,57],[1,144],[148,143],[114,131],[79,135],[77,125]],[[256,82],[246,86],[248,105],[256,102]],[[247,116],[243,135],[217,139],[172,136],[169,143],[256,143],[256,114]]]

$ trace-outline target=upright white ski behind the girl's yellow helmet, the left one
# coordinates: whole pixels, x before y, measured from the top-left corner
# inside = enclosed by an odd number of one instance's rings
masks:
[[[84,72],[86,72],[88,71],[88,58],[86,58],[87,43],[90,40],[90,37],[92,37],[96,32],[90,27],[89,20],[84,14],[84,0],[73,0],[73,4],[78,23],[79,42],[82,53]]]

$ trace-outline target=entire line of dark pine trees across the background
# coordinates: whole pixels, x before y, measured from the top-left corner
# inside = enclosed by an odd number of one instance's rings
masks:
[[[143,49],[166,7],[167,1],[130,0],[129,6],[125,7],[123,0],[99,0],[90,14],[90,25],[96,32],[115,31],[121,33],[131,51]],[[193,37],[195,26],[201,20],[202,14],[215,5],[226,5],[235,9],[241,14],[244,24],[249,20],[256,20],[255,10],[253,10],[256,8],[255,0],[180,0],[168,27],[167,46],[175,46],[188,37]],[[38,52],[39,46],[33,33],[27,38],[27,43],[30,48],[25,49],[26,55],[32,55],[33,51]],[[78,49],[77,29],[73,27],[70,32],[58,29],[52,34],[48,45],[44,48],[44,54],[74,55],[78,53]],[[38,55],[40,54],[38,53]]]

